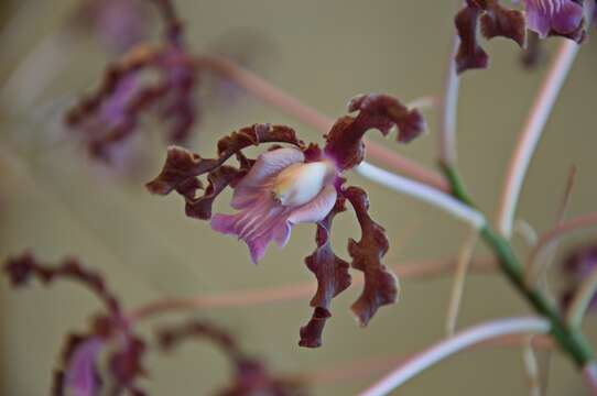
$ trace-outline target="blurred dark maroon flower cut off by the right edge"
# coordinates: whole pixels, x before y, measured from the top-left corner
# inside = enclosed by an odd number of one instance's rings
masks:
[[[562,305],[566,308],[578,287],[597,268],[597,244],[588,244],[573,249],[562,265],[565,289]],[[597,293],[590,300],[589,309],[597,312]]]

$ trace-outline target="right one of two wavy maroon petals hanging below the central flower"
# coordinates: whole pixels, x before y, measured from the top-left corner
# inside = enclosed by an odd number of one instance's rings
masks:
[[[379,307],[398,300],[399,285],[395,275],[381,263],[388,252],[388,239],[383,228],[369,217],[367,194],[358,187],[348,187],[343,194],[355,209],[361,228],[360,241],[348,241],[348,253],[352,267],[365,276],[362,293],[350,309],[359,323],[367,326]]]

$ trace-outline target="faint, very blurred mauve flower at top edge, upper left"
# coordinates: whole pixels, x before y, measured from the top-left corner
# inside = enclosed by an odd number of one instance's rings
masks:
[[[96,36],[115,54],[144,41],[151,25],[146,0],[82,0],[70,18],[70,26]]]

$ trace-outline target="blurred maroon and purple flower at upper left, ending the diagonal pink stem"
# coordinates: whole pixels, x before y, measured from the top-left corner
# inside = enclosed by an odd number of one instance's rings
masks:
[[[166,140],[184,142],[196,120],[196,70],[177,46],[140,46],[108,67],[95,94],[66,116],[66,123],[89,153],[107,162],[154,112],[167,128]]]

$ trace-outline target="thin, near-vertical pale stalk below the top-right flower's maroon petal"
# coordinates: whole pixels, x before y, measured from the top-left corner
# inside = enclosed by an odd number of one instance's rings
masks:
[[[456,163],[456,119],[459,87],[459,78],[456,73],[456,52],[460,44],[457,34],[454,35],[453,42],[439,111],[439,161],[445,165]]]

